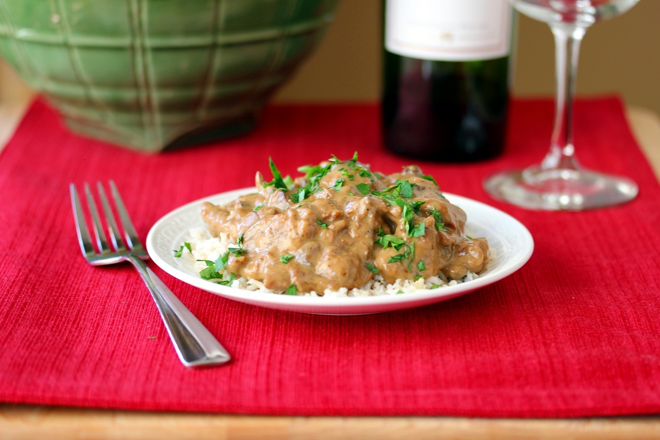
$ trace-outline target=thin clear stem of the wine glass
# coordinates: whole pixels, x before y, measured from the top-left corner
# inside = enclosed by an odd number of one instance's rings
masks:
[[[543,170],[578,170],[573,146],[573,98],[578,73],[579,46],[586,29],[566,23],[550,24],[556,57],[556,98],[550,152]]]

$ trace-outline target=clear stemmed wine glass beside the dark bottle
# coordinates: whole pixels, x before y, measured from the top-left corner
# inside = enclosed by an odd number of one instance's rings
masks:
[[[547,22],[556,45],[556,100],[550,152],[540,165],[489,177],[492,197],[539,210],[601,208],[634,199],[636,183],[582,168],[573,145],[573,98],[579,46],[587,28],[622,14],[639,0],[510,0],[521,13]]]

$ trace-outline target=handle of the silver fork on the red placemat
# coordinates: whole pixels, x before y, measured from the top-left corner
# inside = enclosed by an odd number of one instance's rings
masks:
[[[199,319],[176,298],[165,284],[139,257],[128,255],[128,261],[140,273],[156,301],[160,317],[170,334],[176,354],[186,367],[226,363],[230,354]]]

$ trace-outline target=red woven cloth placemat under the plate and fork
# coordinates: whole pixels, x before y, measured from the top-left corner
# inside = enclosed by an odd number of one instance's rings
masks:
[[[274,107],[247,137],[147,156],[69,133],[38,101],[0,156],[0,400],[248,414],[657,414],[659,185],[618,100],[581,101],[576,113],[583,164],[634,177],[638,199],[578,213],[488,199],[484,177],[538,162],[548,147],[552,103],[515,102],[502,158],[416,162],[444,191],[521,220],[536,242],[525,267],[445,303],[353,317],[254,307],[156,268],[234,355],[187,370],[133,268],[91,268],[79,255],[70,182],[114,179],[144,239],[181,204],[251,185],[269,155],[285,173],[355,150],[381,172],[411,160],[383,151],[373,105]]]

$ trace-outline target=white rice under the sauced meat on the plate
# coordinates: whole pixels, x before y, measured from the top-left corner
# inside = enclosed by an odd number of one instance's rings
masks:
[[[236,247],[236,242],[230,239],[227,234],[221,233],[220,237],[211,237],[206,228],[194,228],[189,232],[189,239],[186,240],[190,243],[192,251],[184,246],[181,255],[182,259],[193,261],[197,272],[207,267],[206,263],[197,260],[210,260],[215,261],[227,252],[228,247]],[[491,255],[492,258],[492,255]],[[228,270],[224,270],[222,279],[228,280],[231,276]],[[362,286],[362,288],[355,288],[348,290],[347,288],[340,288],[339,290],[325,289],[323,292],[299,292],[300,296],[323,296],[323,297],[344,297],[344,296],[377,296],[377,295],[398,295],[409,292],[416,292],[418,290],[429,290],[437,287],[455,286],[461,282],[466,282],[479,278],[478,274],[468,272],[468,274],[461,278],[461,280],[451,280],[446,282],[438,276],[430,276],[428,278],[418,278],[417,280],[397,280],[393,284],[387,284],[383,278],[376,274],[370,282]],[[267,289],[263,282],[254,280],[252,278],[243,278],[236,276],[230,284],[232,288],[244,289],[251,292],[268,292],[279,294],[275,290]]]

